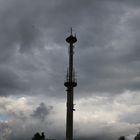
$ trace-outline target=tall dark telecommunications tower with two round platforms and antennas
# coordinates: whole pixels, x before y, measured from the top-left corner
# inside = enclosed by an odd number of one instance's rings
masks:
[[[69,43],[69,67],[67,71],[67,77],[64,85],[67,87],[67,115],[66,115],[66,140],[73,140],[73,97],[74,87],[77,86],[75,80],[75,72],[73,68],[73,54],[74,54],[74,43],[77,42],[76,36],[73,36],[72,29],[71,35],[66,38],[66,42]]]

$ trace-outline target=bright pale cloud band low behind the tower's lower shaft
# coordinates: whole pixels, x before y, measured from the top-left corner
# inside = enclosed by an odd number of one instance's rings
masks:
[[[31,139],[36,132],[44,131],[47,138],[65,138],[65,102],[54,98],[21,97],[7,99],[2,97],[0,113],[6,116],[6,128],[10,129],[10,139]],[[134,99],[134,100],[131,100]],[[44,101],[47,101],[46,105]],[[51,103],[51,104],[50,104]],[[132,112],[139,112],[139,94],[125,92],[115,97],[97,96],[75,100],[74,137],[76,139],[117,139],[125,135],[135,135],[140,123],[135,118],[126,117]],[[53,109],[51,107],[53,105]],[[43,115],[42,115],[43,114]],[[42,121],[43,120],[43,121]],[[133,121],[132,121],[133,120]],[[61,128],[61,129],[60,129]]]

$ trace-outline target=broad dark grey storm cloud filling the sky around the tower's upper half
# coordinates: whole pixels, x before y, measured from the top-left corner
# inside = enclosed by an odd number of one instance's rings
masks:
[[[57,93],[62,93],[63,82],[60,85],[58,81],[64,80],[66,72],[68,44],[64,41],[64,33],[68,31],[68,25],[78,33],[75,58],[80,92],[139,90],[139,80],[135,81],[139,74],[135,68],[138,65],[132,67],[131,63],[139,58],[136,54],[138,41],[135,41],[138,33],[132,29],[138,15],[130,12],[130,18],[127,18],[131,9],[129,3],[128,7],[125,1],[110,0],[57,3],[13,0],[3,3],[5,8],[0,16],[1,64],[2,60],[8,59],[5,65],[26,75],[32,93],[37,88],[41,93],[47,90],[50,95],[61,95]],[[30,59],[26,60],[26,65],[21,53]],[[14,63],[15,59],[17,63]],[[32,72],[37,67],[39,69]]]

